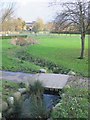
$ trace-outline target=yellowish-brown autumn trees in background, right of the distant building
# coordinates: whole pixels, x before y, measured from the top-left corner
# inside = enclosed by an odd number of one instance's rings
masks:
[[[65,24],[63,27],[64,26]],[[39,18],[33,23],[31,31],[35,33],[40,31],[48,31],[51,33],[80,33],[75,25],[69,25],[65,28],[61,28],[60,21],[57,21],[57,18],[48,23],[45,23],[43,19]]]

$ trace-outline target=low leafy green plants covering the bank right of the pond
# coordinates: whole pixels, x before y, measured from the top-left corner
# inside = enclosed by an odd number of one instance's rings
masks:
[[[90,106],[88,91],[88,81],[83,81],[74,77],[74,81],[60,91],[61,99],[59,104],[51,112],[53,120],[56,119],[85,119],[88,120],[88,110]]]

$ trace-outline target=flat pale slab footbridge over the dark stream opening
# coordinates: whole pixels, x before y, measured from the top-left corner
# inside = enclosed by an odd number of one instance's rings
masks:
[[[64,74],[39,74],[36,75],[35,78],[36,80],[39,80],[43,83],[44,87],[46,89],[62,89],[68,79],[69,75],[64,75]]]

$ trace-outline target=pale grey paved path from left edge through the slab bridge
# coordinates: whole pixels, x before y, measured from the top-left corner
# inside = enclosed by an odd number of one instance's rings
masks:
[[[69,77],[69,75],[53,73],[29,74],[23,72],[0,71],[0,79],[2,80],[24,83],[39,80],[43,83],[45,88],[51,89],[62,89],[66,85]]]

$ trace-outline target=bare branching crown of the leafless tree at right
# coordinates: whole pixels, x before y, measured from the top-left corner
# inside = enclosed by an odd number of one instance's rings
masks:
[[[69,2],[62,4],[63,11],[57,15],[55,22],[59,23],[59,26],[64,24],[66,27],[68,24],[73,24],[77,26],[78,30],[81,31],[84,27],[85,32],[87,31],[88,23],[88,2],[81,2],[77,0],[76,2]],[[65,27],[64,27],[65,28]]]

